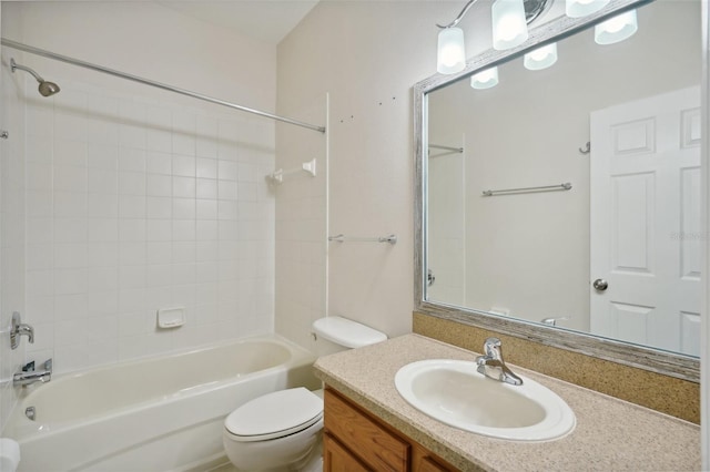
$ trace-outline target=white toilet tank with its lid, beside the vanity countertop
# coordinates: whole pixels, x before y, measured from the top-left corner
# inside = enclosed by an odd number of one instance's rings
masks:
[[[382,331],[339,316],[316,319],[313,331],[318,356],[362,348],[387,339]]]

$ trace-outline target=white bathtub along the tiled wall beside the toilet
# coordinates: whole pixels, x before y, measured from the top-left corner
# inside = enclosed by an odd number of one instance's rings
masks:
[[[273,335],[57,376],[9,421],[19,472],[209,470],[226,462],[224,418],[271,391],[320,388],[314,360]]]

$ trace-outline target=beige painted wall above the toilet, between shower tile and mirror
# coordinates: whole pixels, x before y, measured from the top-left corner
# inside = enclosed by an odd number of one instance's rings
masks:
[[[328,314],[389,336],[409,332],[412,325],[412,86],[435,72],[434,23],[448,21],[458,8],[321,2],[278,45],[281,113],[329,94],[328,234],[398,237],[395,246],[328,245]],[[293,144],[280,140],[277,148]],[[290,314],[287,307],[278,310],[277,325]],[[307,315],[298,316],[307,326]]]

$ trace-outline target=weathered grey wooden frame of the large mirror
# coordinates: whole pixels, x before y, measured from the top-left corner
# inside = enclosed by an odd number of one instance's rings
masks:
[[[561,1],[561,0],[556,0]],[[568,330],[560,327],[547,327],[520,319],[507,318],[488,314],[486,311],[450,306],[442,302],[432,302],[424,299],[426,284],[426,222],[425,202],[427,198],[426,160],[425,150],[427,137],[425,126],[427,123],[426,94],[446,86],[453,82],[465,79],[476,71],[498,65],[513,58],[519,57],[530,49],[561,40],[575,34],[591,24],[613,17],[622,11],[631,10],[650,3],[652,0],[611,0],[609,4],[597,13],[581,19],[560,17],[532,28],[529,39],[521,45],[507,50],[488,51],[469,58],[466,68],[453,75],[435,74],[414,86],[414,133],[415,133],[415,237],[414,237],[414,307],[415,311],[463,325],[469,325],[491,331],[527,339],[545,346],[560,348],[586,356],[591,356],[612,362],[649,370],[665,376],[700,383],[700,359],[632,345],[619,340],[601,338],[581,331]],[[707,25],[703,23],[703,28]],[[700,59],[700,58],[699,58]],[[706,90],[706,83],[701,84]],[[704,104],[704,103],[703,103]],[[704,115],[704,112],[703,112]],[[701,156],[702,166],[707,165],[704,152]],[[704,208],[703,208],[704,212]],[[703,285],[704,286],[704,285]]]

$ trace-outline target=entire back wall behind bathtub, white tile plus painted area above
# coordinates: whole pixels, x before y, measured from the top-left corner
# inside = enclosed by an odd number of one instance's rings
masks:
[[[10,39],[262,110],[275,47],[152,2],[3,3]],[[14,51],[3,48],[6,54]],[[28,359],[58,372],[273,330],[274,123],[26,54]],[[159,330],[155,311],[187,324]]]

